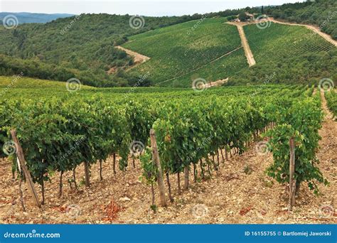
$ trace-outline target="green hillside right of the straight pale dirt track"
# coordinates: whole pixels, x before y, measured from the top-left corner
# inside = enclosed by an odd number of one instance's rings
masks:
[[[337,50],[318,34],[300,26],[270,22],[269,28],[245,26],[257,64],[235,73],[228,85],[298,83],[318,85],[337,76]]]

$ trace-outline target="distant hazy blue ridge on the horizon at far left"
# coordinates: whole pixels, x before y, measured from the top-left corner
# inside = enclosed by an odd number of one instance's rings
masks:
[[[0,12],[0,21],[5,16],[14,15],[18,18],[18,23],[47,23],[53,21],[57,18],[66,18],[74,16],[74,14],[69,13],[11,13],[11,12]]]

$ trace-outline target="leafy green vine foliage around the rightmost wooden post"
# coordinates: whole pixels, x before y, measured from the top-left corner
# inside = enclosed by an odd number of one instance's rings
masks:
[[[274,163],[267,170],[269,176],[279,183],[289,182],[289,139],[295,141],[296,185],[308,183],[314,193],[319,192],[317,182],[328,184],[316,164],[316,151],[319,148],[319,129],[323,113],[319,96],[296,101],[288,109],[279,109],[277,126],[267,132]]]

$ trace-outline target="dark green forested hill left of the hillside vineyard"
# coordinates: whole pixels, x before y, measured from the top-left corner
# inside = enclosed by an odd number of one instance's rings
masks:
[[[132,58],[115,45],[136,33],[198,18],[201,15],[132,18],[102,13],[11,29],[1,25],[0,75],[23,72],[29,77],[63,81],[75,75],[87,85],[127,85],[123,74],[107,74],[110,68],[132,64]]]

